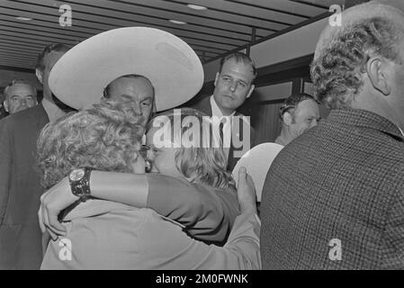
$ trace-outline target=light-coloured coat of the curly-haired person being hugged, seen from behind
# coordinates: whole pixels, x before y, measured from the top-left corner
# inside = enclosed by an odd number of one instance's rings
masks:
[[[261,268],[256,214],[238,216],[224,247],[190,238],[155,211],[115,202],[80,203],[67,220],[67,240],[49,243],[41,269]]]

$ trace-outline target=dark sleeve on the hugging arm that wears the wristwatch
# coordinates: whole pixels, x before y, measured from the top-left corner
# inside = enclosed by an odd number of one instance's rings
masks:
[[[190,184],[166,175],[148,175],[148,208],[185,226],[194,238],[221,242],[239,214],[235,191]]]

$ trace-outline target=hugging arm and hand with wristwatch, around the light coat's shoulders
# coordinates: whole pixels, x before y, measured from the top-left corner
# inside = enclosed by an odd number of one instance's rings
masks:
[[[238,215],[235,194],[218,196],[166,175],[93,171],[90,187],[95,198],[151,208],[183,224],[189,234],[202,240],[222,241]],[[66,229],[58,222],[58,213],[77,199],[70,191],[67,177],[44,193],[39,211],[41,229],[45,225],[56,235],[63,235]]]

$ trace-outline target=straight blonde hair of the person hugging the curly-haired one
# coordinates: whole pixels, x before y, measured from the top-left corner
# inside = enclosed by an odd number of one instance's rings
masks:
[[[168,136],[174,144],[175,166],[189,182],[217,188],[234,187],[234,180],[226,170],[227,158],[220,136],[211,117],[192,108],[174,109],[149,121],[147,130],[151,128],[158,128],[160,134]]]

